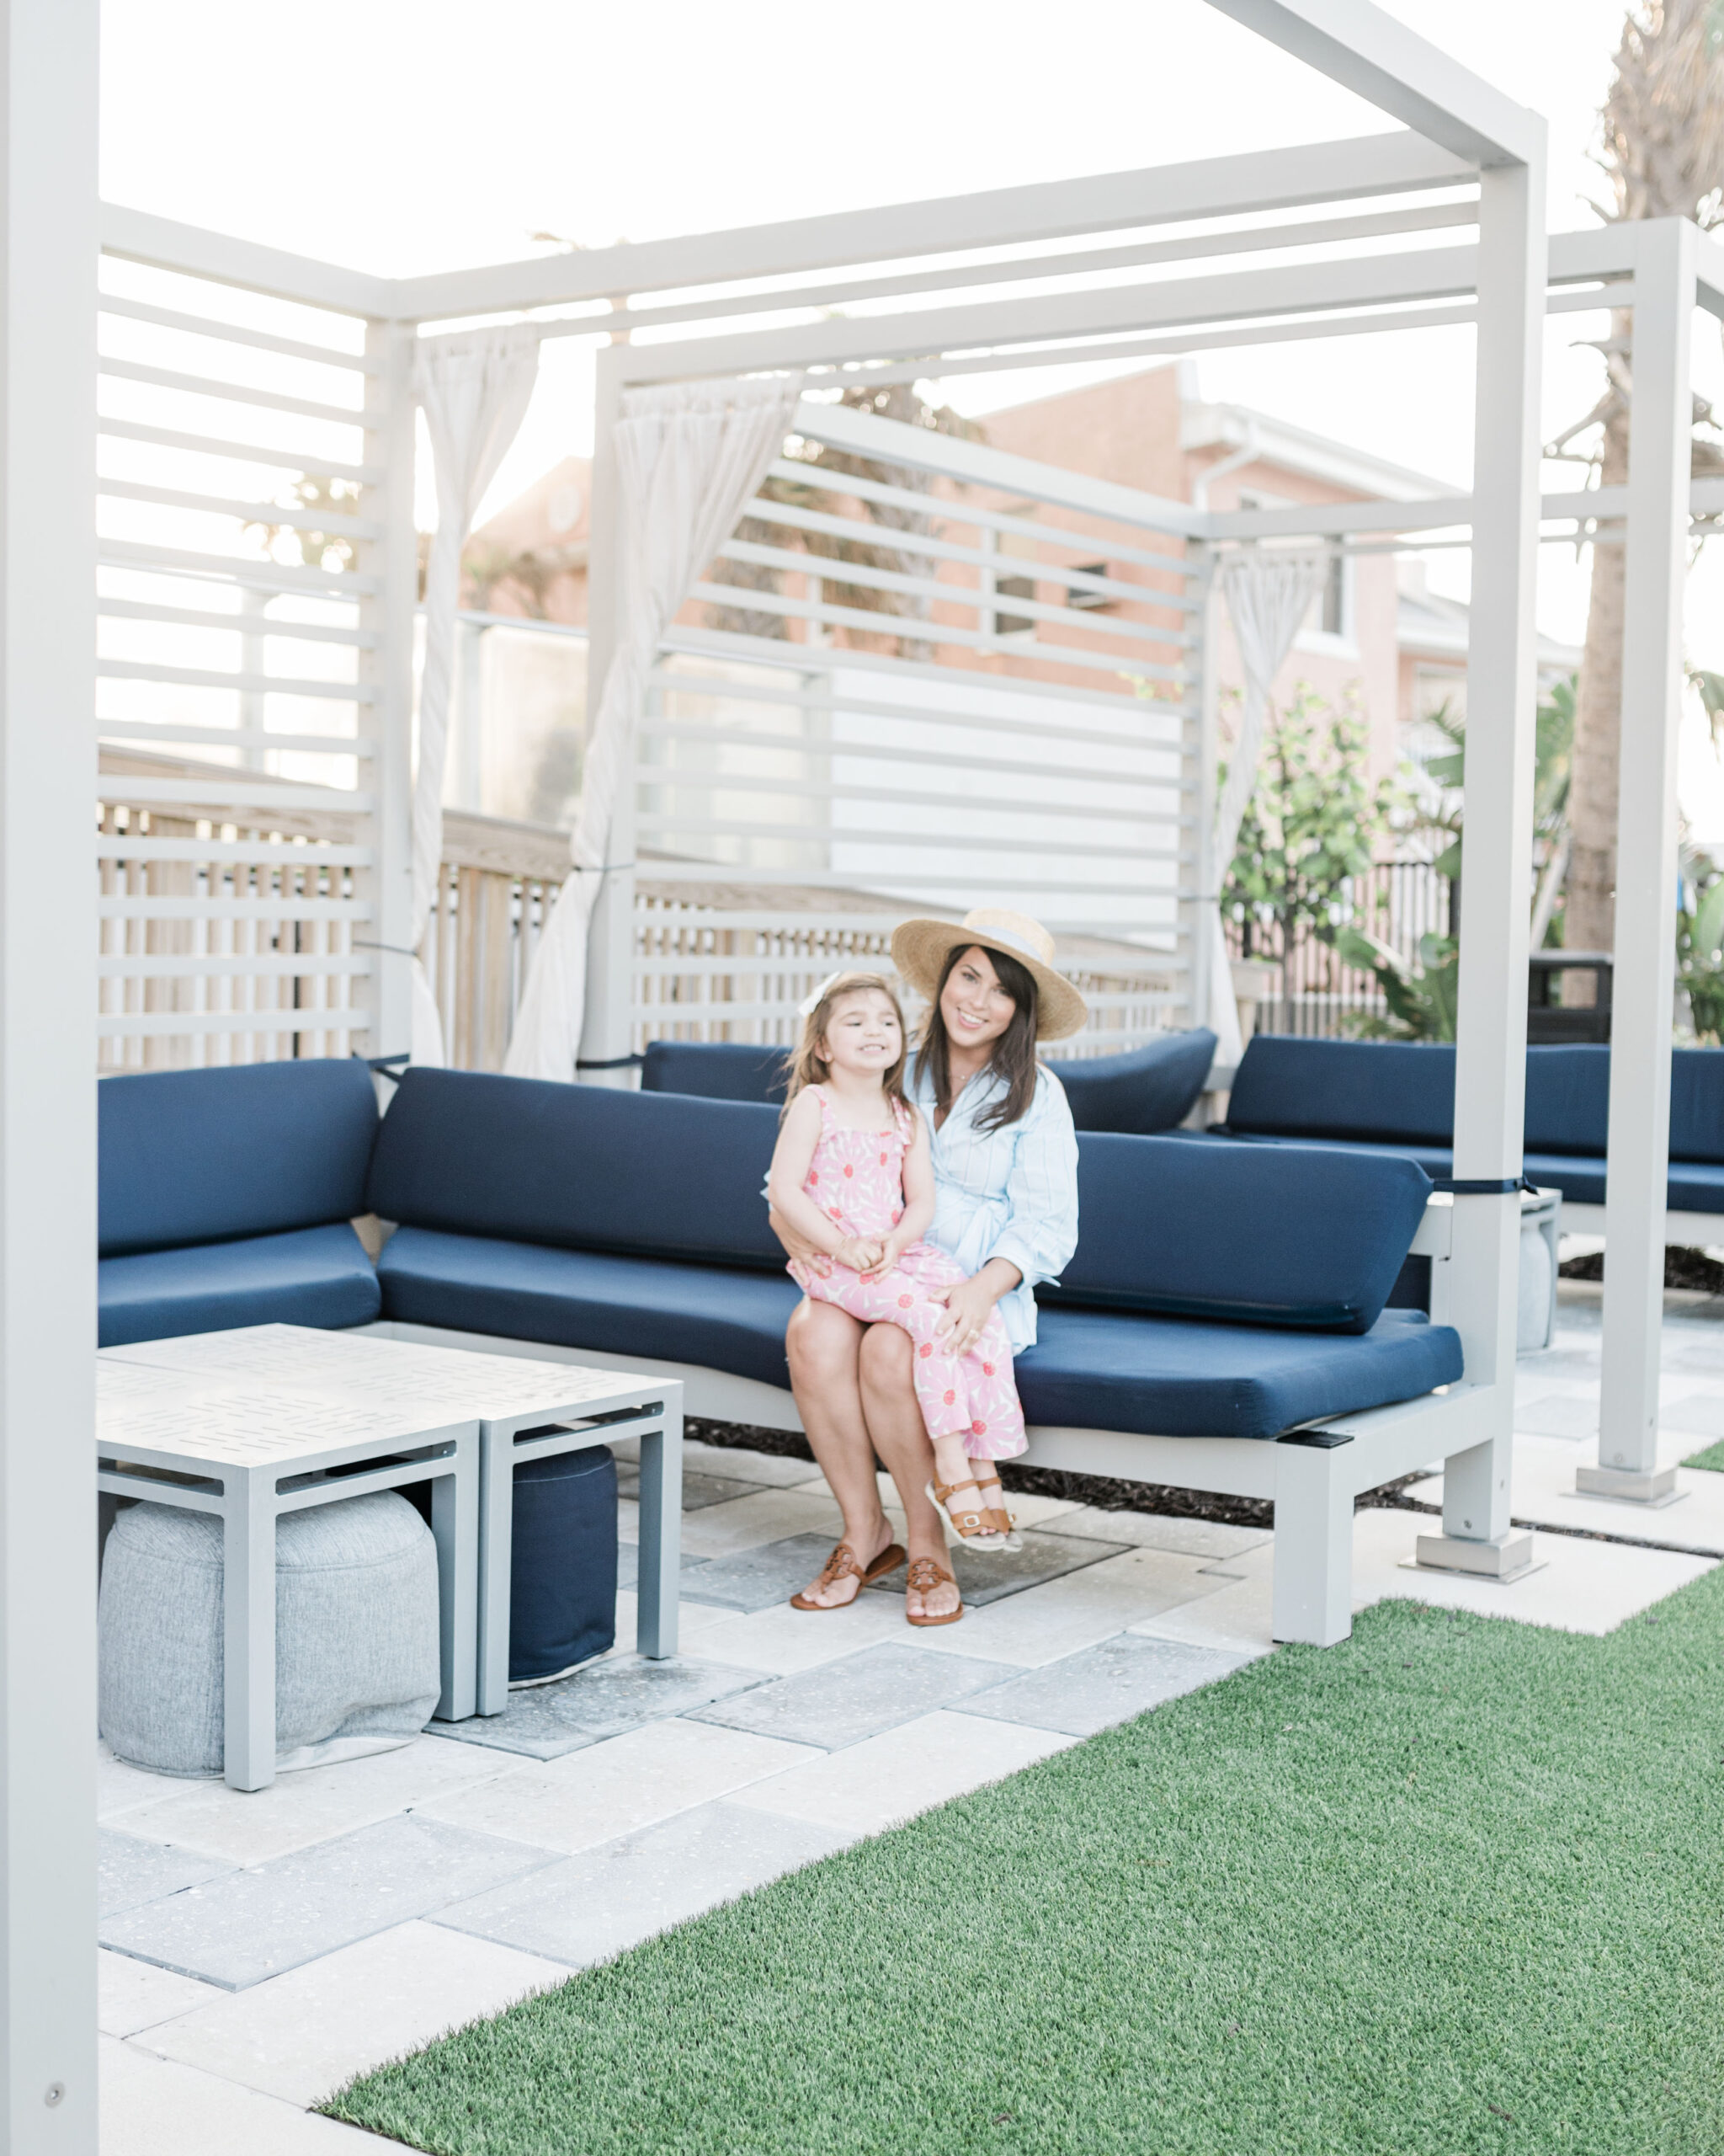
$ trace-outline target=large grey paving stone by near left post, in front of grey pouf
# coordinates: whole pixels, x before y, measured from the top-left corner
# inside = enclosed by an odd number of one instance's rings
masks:
[[[550,1861],[440,1820],[379,1820],[110,1917],[101,1945],[239,1992]]]

